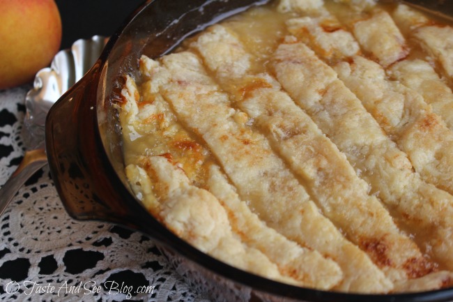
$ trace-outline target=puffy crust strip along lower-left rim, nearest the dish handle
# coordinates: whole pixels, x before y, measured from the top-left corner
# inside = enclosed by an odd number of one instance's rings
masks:
[[[217,198],[207,190],[192,186],[183,170],[164,156],[149,157],[146,171],[136,165],[128,165],[126,169],[140,175],[141,188],[153,187],[159,196],[159,206],[153,208],[155,217],[181,239],[239,269],[304,285],[304,282],[282,275],[266,255],[242,243],[232,231],[227,213]],[[134,169],[139,172],[132,172]]]

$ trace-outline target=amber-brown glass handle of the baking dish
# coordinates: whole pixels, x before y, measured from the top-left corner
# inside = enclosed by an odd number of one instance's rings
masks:
[[[49,110],[46,151],[56,190],[77,220],[102,220],[139,230],[165,243],[169,231],[130,194],[109,162],[98,128],[100,63]]]

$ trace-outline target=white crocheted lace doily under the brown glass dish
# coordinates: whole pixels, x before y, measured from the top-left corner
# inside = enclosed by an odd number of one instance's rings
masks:
[[[0,186],[24,154],[24,97],[0,91]],[[197,301],[152,239],[68,216],[49,169],[17,193],[0,217],[1,301]]]

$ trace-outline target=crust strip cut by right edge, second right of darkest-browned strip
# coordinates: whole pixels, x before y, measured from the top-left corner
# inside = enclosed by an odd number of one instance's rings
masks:
[[[362,101],[385,133],[404,151],[422,179],[453,193],[453,132],[422,96],[362,56],[335,66],[339,79]]]

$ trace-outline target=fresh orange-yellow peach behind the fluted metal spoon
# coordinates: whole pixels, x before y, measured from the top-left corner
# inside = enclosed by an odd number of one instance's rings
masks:
[[[24,84],[48,66],[61,43],[54,0],[0,0],[0,89]]]

